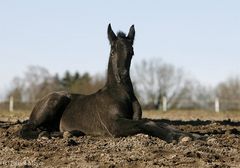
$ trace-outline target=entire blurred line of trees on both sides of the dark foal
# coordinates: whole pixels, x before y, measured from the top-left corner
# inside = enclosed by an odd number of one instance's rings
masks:
[[[183,69],[160,59],[149,59],[132,66],[131,78],[135,93],[143,108],[162,107],[167,99],[169,109],[209,109],[215,98],[221,109],[240,109],[240,78],[226,79],[216,87],[202,85]],[[63,75],[50,74],[46,68],[29,66],[23,77],[15,77],[8,96],[19,102],[35,102],[53,91],[91,94],[103,87],[105,75],[66,71]]]

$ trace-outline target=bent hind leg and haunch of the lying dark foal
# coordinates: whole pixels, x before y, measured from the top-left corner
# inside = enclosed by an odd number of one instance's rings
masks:
[[[39,100],[30,115],[29,121],[23,125],[20,134],[24,138],[36,138],[37,129],[59,131],[59,122],[63,111],[71,101],[67,92],[53,92]],[[34,134],[34,135],[32,135]]]

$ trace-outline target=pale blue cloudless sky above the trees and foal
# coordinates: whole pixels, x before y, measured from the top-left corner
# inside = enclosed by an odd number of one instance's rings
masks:
[[[202,84],[240,74],[240,1],[0,1],[0,98],[29,65],[104,73],[107,25],[136,29],[133,64],[161,58]]]

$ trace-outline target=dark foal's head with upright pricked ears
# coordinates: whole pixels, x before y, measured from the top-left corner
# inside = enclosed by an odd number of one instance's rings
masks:
[[[111,71],[118,83],[121,83],[121,81],[129,77],[131,59],[134,54],[134,37],[134,25],[130,27],[127,36],[123,32],[118,32],[117,35],[115,35],[112,31],[111,25],[108,25],[108,39],[111,45],[109,68],[112,68]]]

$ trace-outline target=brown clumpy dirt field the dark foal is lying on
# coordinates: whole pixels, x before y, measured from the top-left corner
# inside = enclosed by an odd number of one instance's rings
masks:
[[[16,119],[27,115],[0,115],[0,167],[240,167],[239,112],[144,113],[178,129],[209,135],[206,141],[169,144],[142,134],[23,140],[16,135],[21,126]]]

